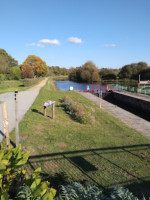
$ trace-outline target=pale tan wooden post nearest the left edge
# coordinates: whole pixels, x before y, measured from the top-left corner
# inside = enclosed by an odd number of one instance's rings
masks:
[[[4,118],[4,134],[6,135],[6,144],[7,144],[7,147],[10,148],[8,115],[7,115],[7,105],[6,105],[6,103],[3,103],[3,118]]]

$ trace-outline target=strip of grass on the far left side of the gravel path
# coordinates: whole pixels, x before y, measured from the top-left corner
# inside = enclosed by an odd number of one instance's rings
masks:
[[[34,80],[34,81],[33,81]],[[5,92],[13,92],[15,90],[23,91],[38,84],[42,79],[31,80],[10,80],[0,81],[0,94]]]

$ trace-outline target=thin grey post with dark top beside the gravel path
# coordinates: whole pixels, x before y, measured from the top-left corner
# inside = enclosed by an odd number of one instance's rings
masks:
[[[15,90],[15,118],[16,118],[16,146],[19,145],[19,127],[18,127],[18,91]]]

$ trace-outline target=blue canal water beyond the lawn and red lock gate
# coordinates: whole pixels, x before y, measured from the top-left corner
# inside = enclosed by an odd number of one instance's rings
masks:
[[[89,89],[92,89],[92,85],[93,84],[76,83],[72,81],[56,81],[56,87],[58,90],[61,91],[67,91],[70,89],[71,86],[73,87],[73,90],[86,90],[87,87],[89,87]],[[106,86],[100,84],[94,84],[94,89],[100,89],[100,86],[103,91],[106,90]]]

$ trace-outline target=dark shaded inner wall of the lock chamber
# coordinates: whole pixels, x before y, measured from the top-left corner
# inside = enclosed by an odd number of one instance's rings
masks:
[[[136,97],[128,96],[121,93],[112,92],[108,94],[113,100],[119,101],[124,103],[132,108],[138,109],[141,112],[149,113],[150,114],[150,102],[145,101],[142,99],[138,99]]]

